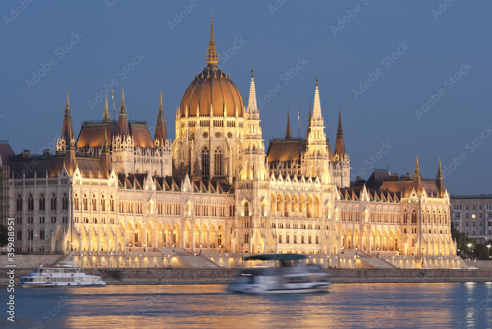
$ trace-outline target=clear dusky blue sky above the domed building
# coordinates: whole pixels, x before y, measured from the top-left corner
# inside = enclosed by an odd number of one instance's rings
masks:
[[[31,2],[32,1],[32,2]],[[0,3],[0,139],[55,150],[68,83],[75,134],[101,120],[124,79],[128,117],[155,126],[162,86],[176,108],[206,66],[213,5],[218,65],[248,102],[254,69],[263,138],[306,135],[316,78],[332,149],[341,118],[352,179],[373,168],[424,178],[441,158],[451,195],[492,193],[491,1],[33,1]],[[106,87],[105,87],[106,86]],[[111,111],[112,105],[110,105]]]

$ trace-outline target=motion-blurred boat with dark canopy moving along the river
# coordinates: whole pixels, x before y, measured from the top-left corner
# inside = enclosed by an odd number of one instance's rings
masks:
[[[249,294],[301,294],[325,292],[329,274],[316,265],[304,265],[302,254],[270,254],[246,257],[245,260],[277,261],[275,268],[244,269],[228,290]]]

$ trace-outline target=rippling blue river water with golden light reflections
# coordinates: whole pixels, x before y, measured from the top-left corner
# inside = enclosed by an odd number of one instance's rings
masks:
[[[6,287],[0,302],[5,310]],[[223,285],[15,289],[1,328],[492,328],[492,283],[333,284],[243,295]]]

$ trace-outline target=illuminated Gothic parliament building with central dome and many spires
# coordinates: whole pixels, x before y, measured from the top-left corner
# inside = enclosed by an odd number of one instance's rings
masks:
[[[154,138],[128,121],[86,121],[75,139],[66,95],[55,154],[10,157],[10,212],[19,252],[95,255],[162,248],[205,252],[455,255],[449,195],[436,179],[375,172],[350,185],[341,113],[335,151],[318,82],[306,139],[262,137],[253,74],[248,105],[217,66],[195,74],[167,138],[162,91]],[[289,121],[288,121],[289,122]]]

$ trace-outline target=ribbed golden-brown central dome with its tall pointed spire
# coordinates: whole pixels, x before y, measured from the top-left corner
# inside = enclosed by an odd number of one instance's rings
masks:
[[[225,109],[228,117],[235,117],[237,107],[238,116],[243,117],[243,97],[229,76],[217,66],[217,62],[214,21],[212,20],[209,51],[207,52],[208,65],[202,73],[195,75],[195,80],[184,92],[180,107],[182,118],[186,116],[186,109],[188,117],[195,117],[197,108],[199,108],[200,117],[209,117],[211,106],[214,116],[223,117]]]

